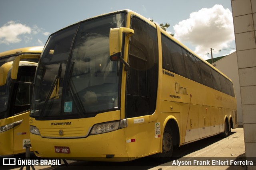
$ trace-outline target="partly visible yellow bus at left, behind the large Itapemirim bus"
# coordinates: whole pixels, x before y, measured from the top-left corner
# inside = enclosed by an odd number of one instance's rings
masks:
[[[42,49],[26,47],[0,53],[0,155],[23,153],[24,144],[30,143],[31,82]],[[26,59],[13,69],[14,59],[21,56]],[[12,71],[17,73],[16,77],[11,77]]]

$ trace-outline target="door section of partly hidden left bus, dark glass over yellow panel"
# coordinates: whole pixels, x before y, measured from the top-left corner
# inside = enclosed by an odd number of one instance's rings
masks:
[[[37,64],[22,65],[18,69],[17,81],[33,82]],[[25,149],[24,144],[30,143],[29,113],[32,92],[33,86],[29,84],[14,84],[11,109],[14,115],[13,154],[20,153]]]

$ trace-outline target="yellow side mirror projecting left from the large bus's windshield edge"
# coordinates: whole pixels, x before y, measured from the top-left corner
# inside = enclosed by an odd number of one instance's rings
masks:
[[[20,64],[20,60],[21,59],[39,59],[40,58],[40,55],[32,55],[32,54],[28,54],[28,55],[19,55],[17,56],[13,63],[12,63],[12,70],[11,70],[11,79],[12,81],[14,82],[18,82],[17,81],[17,75],[18,75],[18,69],[19,69],[19,64]],[[29,83],[29,82],[23,82],[25,84],[32,84],[32,83]]]

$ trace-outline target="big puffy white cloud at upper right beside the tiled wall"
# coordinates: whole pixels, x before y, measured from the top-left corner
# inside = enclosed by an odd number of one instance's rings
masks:
[[[176,39],[195,45],[195,52],[201,56],[210,48],[229,47],[235,39],[232,13],[222,5],[192,12],[190,18],[174,25],[174,31]]]

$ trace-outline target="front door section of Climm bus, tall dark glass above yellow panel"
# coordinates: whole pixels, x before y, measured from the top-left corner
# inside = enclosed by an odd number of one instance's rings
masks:
[[[132,16],[126,77],[126,111],[124,128],[128,156],[142,156],[160,150],[160,125],[150,122],[156,109],[158,85],[158,44],[156,28]],[[156,137],[156,138],[155,138]]]

